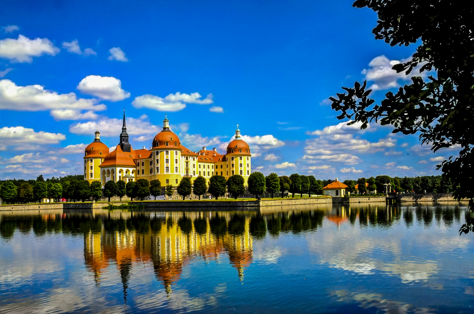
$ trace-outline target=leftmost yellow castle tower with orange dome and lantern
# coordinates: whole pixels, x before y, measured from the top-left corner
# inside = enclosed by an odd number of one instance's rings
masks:
[[[84,179],[89,183],[100,180],[100,164],[109,153],[109,147],[100,142],[99,129],[95,131],[94,141],[87,145],[84,153]]]

